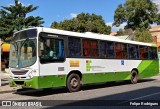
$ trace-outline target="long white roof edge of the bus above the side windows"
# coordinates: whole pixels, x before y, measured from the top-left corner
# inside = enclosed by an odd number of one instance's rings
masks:
[[[124,39],[120,39],[115,36],[110,36],[110,35],[105,35],[105,34],[97,34],[97,33],[91,33],[91,32],[78,33],[78,32],[71,32],[71,31],[66,31],[66,30],[58,30],[58,29],[45,28],[45,27],[36,27],[36,28],[38,29],[39,32],[47,32],[47,33],[52,33],[52,34],[60,34],[60,35],[73,36],[73,37],[115,41],[115,42],[145,45],[145,46],[155,46],[154,44],[150,44],[150,43],[124,40]],[[30,29],[33,29],[33,28],[30,28]]]

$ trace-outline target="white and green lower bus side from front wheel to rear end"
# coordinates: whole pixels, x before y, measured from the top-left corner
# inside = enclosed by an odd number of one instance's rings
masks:
[[[107,62],[109,63],[106,64],[105,69],[104,65]],[[124,60],[124,65],[120,65],[120,63],[120,60],[114,60],[114,62],[107,60],[105,62],[101,61],[101,63],[92,60],[88,66],[86,65],[86,72],[87,69],[89,70],[87,73],[83,74],[83,84],[130,80],[131,70],[133,68],[138,69],[139,78],[152,77],[159,73],[158,60]],[[104,70],[102,70],[102,72],[95,72],[93,71],[94,66],[97,66],[95,68],[100,66],[100,68],[104,68]]]

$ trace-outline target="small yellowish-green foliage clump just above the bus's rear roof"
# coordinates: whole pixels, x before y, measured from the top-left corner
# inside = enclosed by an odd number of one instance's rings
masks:
[[[152,42],[152,35],[146,29],[136,29],[135,30],[135,40],[140,42]]]

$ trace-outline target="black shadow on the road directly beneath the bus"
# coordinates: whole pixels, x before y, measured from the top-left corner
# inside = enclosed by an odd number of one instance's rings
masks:
[[[142,79],[139,83],[154,81],[155,79]],[[81,90],[92,90],[92,89],[101,89],[107,87],[116,87],[121,85],[130,85],[130,81],[119,81],[119,82],[107,82],[107,83],[99,83],[99,84],[90,84],[82,86]],[[27,96],[35,96],[42,97],[53,94],[61,94],[67,93],[67,89],[65,87],[60,88],[47,88],[47,89],[18,89],[14,94],[27,95]]]

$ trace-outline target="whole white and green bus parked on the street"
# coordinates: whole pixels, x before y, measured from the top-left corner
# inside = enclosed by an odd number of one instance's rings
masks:
[[[35,27],[14,33],[9,58],[11,87],[45,89],[130,80],[159,73],[157,47],[91,32]]]

